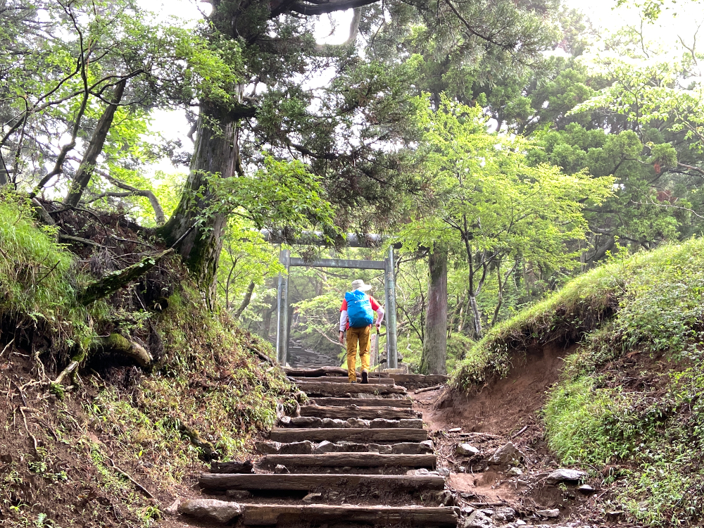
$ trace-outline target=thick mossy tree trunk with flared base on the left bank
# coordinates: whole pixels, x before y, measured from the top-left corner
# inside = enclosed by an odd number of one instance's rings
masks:
[[[201,104],[188,180],[176,210],[159,230],[167,244],[175,244],[196,284],[206,294],[210,309],[215,307],[215,277],[227,215],[215,213],[202,218],[201,212],[213,200],[208,177],[234,176],[239,157],[238,132],[237,121],[227,111],[210,103]]]

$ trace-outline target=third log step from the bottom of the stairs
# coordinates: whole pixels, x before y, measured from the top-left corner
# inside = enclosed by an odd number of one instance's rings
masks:
[[[322,453],[318,455],[265,455],[260,463],[275,467],[435,467],[435,455],[380,455],[379,453]]]

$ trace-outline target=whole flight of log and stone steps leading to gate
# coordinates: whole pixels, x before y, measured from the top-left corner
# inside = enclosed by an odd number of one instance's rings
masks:
[[[432,441],[405,387],[393,377],[348,384],[346,371],[337,367],[287,369],[287,374],[308,400],[299,416],[284,417],[268,441],[256,444],[263,457],[253,469],[246,463],[216,463],[216,471],[228,472],[201,475],[206,494],[227,499],[221,505],[201,501],[225,513],[208,517],[210,522],[457,526],[459,509],[441,505],[451,504],[452,496],[434,472]],[[189,510],[184,503],[180,511],[198,515],[203,508],[191,504]]]

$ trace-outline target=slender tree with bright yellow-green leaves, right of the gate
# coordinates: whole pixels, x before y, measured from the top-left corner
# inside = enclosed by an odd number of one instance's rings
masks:
[[[613,180],[527,163],[527,143],[487,132],[479,108],[444,99],[422,122],[427,183],[403,236],[417,245],[441,242],[463,255],[471,334],[480,337],[477,296],[489,272],[496,269],[505,284],[519,262],[573,268],[577,253],[568,244],[585,237],[585,203],[601,203]]]

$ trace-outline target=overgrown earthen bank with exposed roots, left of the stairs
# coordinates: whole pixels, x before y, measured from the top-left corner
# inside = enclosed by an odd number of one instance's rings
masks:
[[[150,526],[160,503],[116,466],[162,498],[178,495],[204,463],[244,456],[277,408],[296,406],[294,387],[267,359],[270,344],[210,313],[177,263],[163,275],[175,277],[165,284],[173,293],[153,310],[134,285],[84,308],[77,292],[92,277],[78,270],[89,258],[57,244],[26,202],[1,196],[0,518],[8,526],[76,526],[75,517],[97,527],[120,515],[121,525]],[[141,369],[96,348],[108,332],[142,339],[158,362]],[[76,351],[84,351],[77,375],[52,391]],[[60,485],[71,493],[57,495]]]

